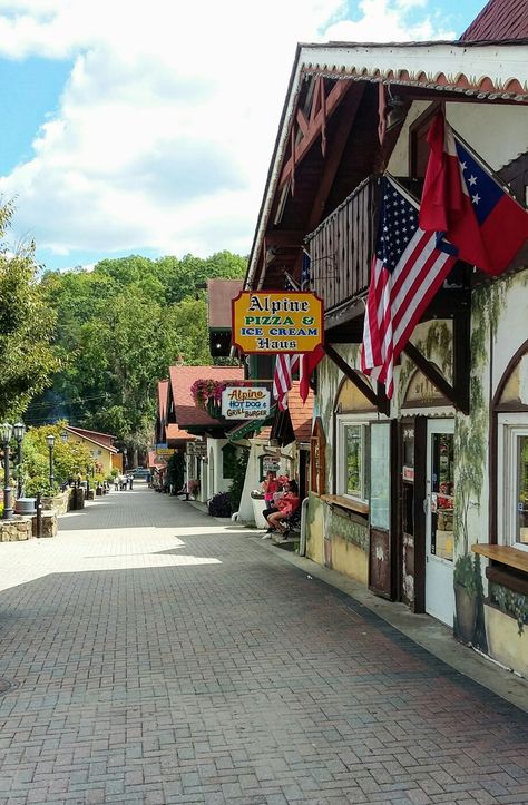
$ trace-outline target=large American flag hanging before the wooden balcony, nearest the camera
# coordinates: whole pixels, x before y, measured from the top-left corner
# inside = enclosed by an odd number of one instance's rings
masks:
[[[392,396],[393,365],[457,257],[437,248],[437,234],[418,225],[418,205],[391,178],[382,179],[361,367]]]

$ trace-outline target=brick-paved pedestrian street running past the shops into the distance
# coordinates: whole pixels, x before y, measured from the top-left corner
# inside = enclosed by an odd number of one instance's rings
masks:
[[[0,802],[528,803],[526,714],[280,553],[140,485],[1,543]]]

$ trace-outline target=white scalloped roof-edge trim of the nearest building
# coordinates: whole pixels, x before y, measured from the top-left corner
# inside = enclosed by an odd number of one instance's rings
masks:
[[[264,275],[258,276],[258,271],[265,265],[263,249],[303,82],[319,76],[358,84],[383,82],[446,99],[459,96],[528,104],[528,40],[299,45],[258,213],[246,289],[262,286]]]

